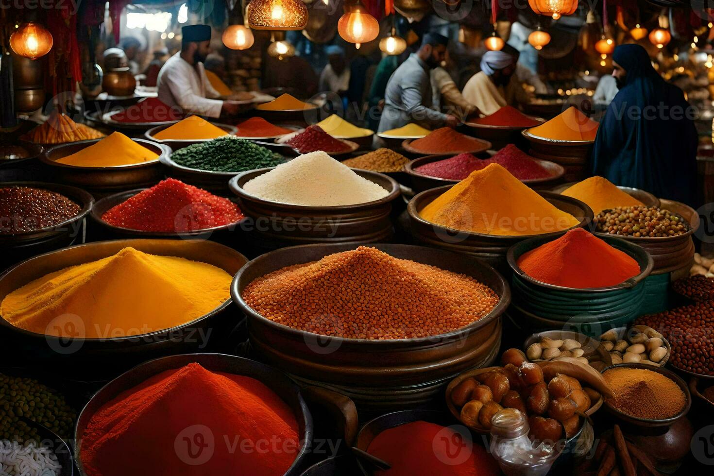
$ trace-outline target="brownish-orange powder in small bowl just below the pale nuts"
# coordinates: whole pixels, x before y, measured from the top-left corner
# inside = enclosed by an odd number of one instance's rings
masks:
[[[633,417],[664,420],[677,415],[686,403],[674,380],[652,370],[615,367],[605,370],[603,378],[615,394],[608,403]]]

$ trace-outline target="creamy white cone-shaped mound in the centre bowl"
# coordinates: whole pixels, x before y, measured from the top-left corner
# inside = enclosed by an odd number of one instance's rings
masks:
[[[303,154],[243,185],[252,196],[303,206],[366,203],[389,194],[323,151]]]

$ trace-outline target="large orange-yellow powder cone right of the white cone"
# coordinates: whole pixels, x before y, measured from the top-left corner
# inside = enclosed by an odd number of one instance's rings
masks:
[[[472,172],[419,214],[437,225],[498,236],[541,235],[579,223],[497,163]]]

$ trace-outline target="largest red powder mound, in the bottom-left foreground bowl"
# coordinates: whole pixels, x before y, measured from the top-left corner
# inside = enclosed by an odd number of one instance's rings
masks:
[[[299,450],[295,415],[273,390],[191,363],[101,407],[80,452],[89,476],[276,476]]]

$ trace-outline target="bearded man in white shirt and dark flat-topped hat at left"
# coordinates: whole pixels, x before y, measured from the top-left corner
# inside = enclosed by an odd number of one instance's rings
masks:
[[[159,71],[159,100],[179,106],[184,113],[208,117],[233,116],[244,107],[235,101],[222,101],[211,86],[203,61],[211,52],[211,27],[188,25],[181,28],[181,51],[171,56]]]

